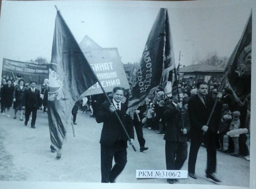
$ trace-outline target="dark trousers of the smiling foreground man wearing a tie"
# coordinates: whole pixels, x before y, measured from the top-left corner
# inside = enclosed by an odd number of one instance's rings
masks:
[[[123,171],[127,163],[126,147],[107,146],[100,144],[101,160],[101,182],[113,182],[116,177]],[[113,157],[115,165],[112,168]]]

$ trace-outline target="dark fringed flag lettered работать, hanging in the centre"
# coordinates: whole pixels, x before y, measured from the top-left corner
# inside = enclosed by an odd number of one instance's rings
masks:
[[[167,9],[161,8],[148,35],[140,65],[132,82],[127,114],[143,105],[150,90],[154,90],[175,67],[172,36]],[[167,77],[168,78],[168,77]]]

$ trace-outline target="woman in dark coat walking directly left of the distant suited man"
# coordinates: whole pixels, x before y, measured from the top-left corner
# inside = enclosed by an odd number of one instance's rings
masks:
[[[18,110],[20,111],[20,120],[23,121],[23,111],[24,109],[22,108],[22,99],[24,95],[24,91],[26,89],[24,85],[24,79],[20,79],[18,82],[18,85],[14,87],[14,92],[13,92],[13,109],[14,109],[14,117],[13,119],[16,119],[16,114]]]

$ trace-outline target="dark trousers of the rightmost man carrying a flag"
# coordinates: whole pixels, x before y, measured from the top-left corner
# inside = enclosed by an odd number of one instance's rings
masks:
[[[188,172],[190,173],[195,173],[197,153],[203,141],[207,151],[207,168],[205,172],[206,174],[211,174],[216,171],[215,134],[212,133],[210,130],[208,130],[201,137],[191,137],[189,157],[188,157]]]

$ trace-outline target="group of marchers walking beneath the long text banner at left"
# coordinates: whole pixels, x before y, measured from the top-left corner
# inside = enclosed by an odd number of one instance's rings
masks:
[[[25,84],[25,80],[20,74],[15,78],[3,76],[0,89],[1,113],[10,117],[10,108],[13,105],[13,119],[17,119],[17,113],[19,112],[19,120],[23,121],[23,115],[25,115],[24,125],[27,126],[28,121],[31,120],[31,128],[35,128],[36,113],[42,104],[44,106],[44,113],[47,112],[48,82],[48,79],[44,80],[40,92],[36,88],[36,81],[31,80],[30,84]],[[31,113],[32,116],[30,117]]]

